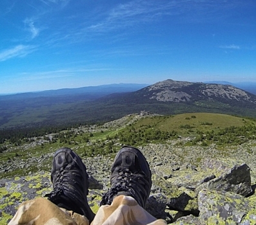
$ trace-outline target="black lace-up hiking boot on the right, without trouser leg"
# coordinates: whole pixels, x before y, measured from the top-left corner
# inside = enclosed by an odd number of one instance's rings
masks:
[[[110,205],[114,197],[127,195],[144,208],[152,185],[151,171],[138,149],[124,146],[119,150],[111,168],[110,185],[110,190],[103,195],[101,205]]]

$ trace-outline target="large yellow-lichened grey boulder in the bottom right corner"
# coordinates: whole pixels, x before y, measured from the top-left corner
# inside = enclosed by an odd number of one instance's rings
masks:
[[[201,224],[255,224],[256,205],[231,192],[204,189],[199,192]]]

